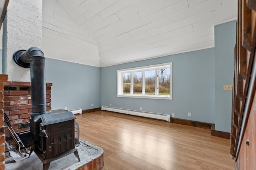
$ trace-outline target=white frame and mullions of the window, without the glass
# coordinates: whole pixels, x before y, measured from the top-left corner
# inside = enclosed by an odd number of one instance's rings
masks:
[[[145,70],[156,69],[156,75],[158,75],[158,68],[169,67],[170,68],[170,96],[163,95],[145,95]],[[142,71],[142,94],[133,94],[133,72]],[[123,78],[122,74],[124,72],[131,73],[131,90],[130,94],[122,94],[123,92]],[[158,76],[157,76],[158,77]],[[158,94],[158,86],[159,86],[159,78],[156,78],[156,93]],[[172,100],[172,62],[164,63],[164,64],[156,64],[150,66],[142,66],[136,68],[126,68],[122,70],[117,70],[117,97],[122,98],[146,98],[146,99],[164,99],[164,100]]]

